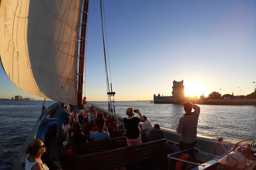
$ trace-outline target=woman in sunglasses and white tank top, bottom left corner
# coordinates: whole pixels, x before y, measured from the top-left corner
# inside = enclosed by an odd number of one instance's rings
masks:
[[[41,156],[45,152],[45,144],[42,139],[32,140],[25,152],[29,153],[26,157],[25,170],[49,170],[41,160]]]

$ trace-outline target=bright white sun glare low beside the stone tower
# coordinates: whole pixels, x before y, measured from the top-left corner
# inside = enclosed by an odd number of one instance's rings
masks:
[[[207,91],[207,88],[204,84],[198,82],[198,81],[189,81],[189,82],[184,82],[184,94],[185,96],[195,96],[199,98],[202,93]]]

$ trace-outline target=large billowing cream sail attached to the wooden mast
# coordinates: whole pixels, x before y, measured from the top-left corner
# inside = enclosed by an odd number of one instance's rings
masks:
[[[1,0],[0,56],[26,92],[77,105],[81,0]]]

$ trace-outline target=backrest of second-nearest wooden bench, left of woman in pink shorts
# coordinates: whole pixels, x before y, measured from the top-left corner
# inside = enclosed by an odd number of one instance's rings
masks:
[[[126,137],[87,142],[75,145],[75,155],[84,155],[127,146]]]

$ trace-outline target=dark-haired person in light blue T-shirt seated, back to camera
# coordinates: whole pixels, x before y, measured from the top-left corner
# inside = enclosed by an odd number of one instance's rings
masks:
[[[99,119],[99,121],[97,122],[97,125],[99,127],[98,130],[95,132],[92,132],[91,130],[89,131],[90,139],[93,139],[93,141],[110,139],[105,122],[106,122],[106,119],[104,118]],[[103,128],[105,128],[106,131],[103,131]]]

